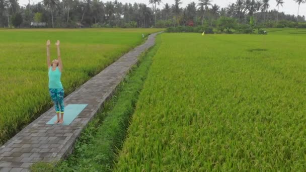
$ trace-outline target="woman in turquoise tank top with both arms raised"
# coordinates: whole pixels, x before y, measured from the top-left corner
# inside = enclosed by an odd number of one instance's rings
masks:
[[[54,124],[62,124],[64,117],[64,89],[60,81],[63,65],[60,57],[59,41],[56,42],[57,59],[50,62],[50,40],[47,41],[47,64],[49,69],[49,93],[55,105],[57,120]],[[59,114],[61,114],[59,118]]]

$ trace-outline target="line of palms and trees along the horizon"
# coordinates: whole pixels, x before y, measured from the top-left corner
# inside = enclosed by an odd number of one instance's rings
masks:
[[[0,27],[29,28],[31,22],[45,22],[49,28],[122,27],[149,28],[171,26],[216,25],[220,17],[234,18],[238,24],[247,24],[251,17],[265,27],[290,27],[289,24],[305,22],[305,16],[286,15],[278,12],[286,6],[284,0],[274,0],[277,10],[269,10],[270,0],[237,0],[225,8],[212,0],[198,0],[186,7],[182,0],[173,4],[162,0],[122,4],[100,0],[43,0],[21,6],[19,0],[0,0]],[[306,0],[291,0],[300,5]],[[159,8],[161,7],[161,8]],[[288,26],[287,26],[288,25]]]

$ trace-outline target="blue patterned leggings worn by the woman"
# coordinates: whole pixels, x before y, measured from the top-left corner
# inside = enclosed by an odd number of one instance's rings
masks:
[[[64,113],[64,89],[49,89],[49,93],[54,102],[56,113]]]

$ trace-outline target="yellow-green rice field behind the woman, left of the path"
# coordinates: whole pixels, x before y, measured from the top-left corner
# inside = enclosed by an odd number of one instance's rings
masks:
[[[0,30],[0,145],[52,106],[46,40],[61,41],[65,95],[158,29]]]

